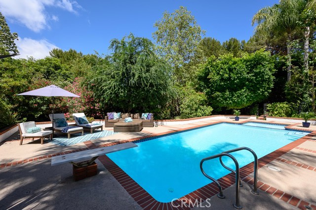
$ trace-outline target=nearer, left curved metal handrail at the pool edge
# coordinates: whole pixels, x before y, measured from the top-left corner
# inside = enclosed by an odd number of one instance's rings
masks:
[[[210,157],[207,157],[207,158],[203,158],[201,160],[201,162],[199,163],[199,168],[202,172],[202,174],[204,176],[206,176],[207,178],[211,179],[212,181],[214,181],[216,183],[216,185],[218,186],[218,189],[219,189],[219,193],[217,194],[217,197],[219,198],[225,198],[225,196],[223,195],[223,190],[222,190],[222,187],[221,185],[219,184],[219,182],[207,175],[204,170],[203,170],[203,163],[204,161],[207,161],[207,160],[211,160],[211,159],[214,159],[214,158],[218,158],[218,157],[222,157],[222,156],[227,156],[227,157],[230,157],[234,163],[235,163],[235,166],[236,166],[236,172],[235,172],[235,181],[236,181],[236,203],[233,205],[236,209],[242,209],[242,206],[240,206],[240,203],[239,203],[239,184],[240,184],[240,180],[239,180],[239,164],[237,162],[237,160],[234,158],[233,155],[231,154],[228,154],[228,153],[220,153],[220,154],[217,154],[217,155],[213,155],[213,156],[210,156]]]

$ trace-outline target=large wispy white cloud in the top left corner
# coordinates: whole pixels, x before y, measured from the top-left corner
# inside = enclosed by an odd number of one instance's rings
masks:
[[[49,28],[47,21],[58,20],[56,15],[48,15],[47,6],[56,6],[77,13],[81,9],[77,1],[71,0],[0,0],[0,11],[9,20],[22,23],[34,32]]]

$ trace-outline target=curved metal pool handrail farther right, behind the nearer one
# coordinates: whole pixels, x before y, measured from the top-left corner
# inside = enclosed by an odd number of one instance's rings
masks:
[[[252,149],[250,149],[250,148],[248,148],[248,147],[238,147],[238,148],[236,148],[236,149],[227,150],[227,151],[222,152],[222,153],[232,153],[232,152],[237,152],[237,151],[240,151],[240,150],[248,150],[249,152],[251,152],[251,154],[252,154],[253,157],[254,157],[254,167],[253,167],[253,168],[254,168],[254,169],[253,169],[253,173],[254,173],[254,177],[253,177],[253,178],[254,178],[254,181],[253,181],[253,189],[251,190],[251,192],[252,192],[253,194],[255,194],[255,195],[259,195],[258,187],[257,187],[257,182],[258,182],[258,157],[257,157],[256,153],[255,153]],[[219,161],[221,162],[222,166],[223,166],[225,169],[227,169],[227,170],[229,170],[229,171],[231,171],[231,172],[233,172],[233,173],[236,173],[233,169],[231,169],[231,168],[225,166],[225,164],[224,164],[223,161],[222,161],[222,157],[219,158]],[[240,179],[240,177],[239,177],[239,179]],[[242,186],[242,185],[241,185],[241,186]]]

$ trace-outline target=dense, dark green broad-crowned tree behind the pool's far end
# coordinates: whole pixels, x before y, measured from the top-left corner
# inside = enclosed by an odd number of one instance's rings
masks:
[[[213,108],[243,108],[266,99],[274,80],[268,52],[259,50],[236,58],[226,54],[210,57],[198,75],[199,88]]]

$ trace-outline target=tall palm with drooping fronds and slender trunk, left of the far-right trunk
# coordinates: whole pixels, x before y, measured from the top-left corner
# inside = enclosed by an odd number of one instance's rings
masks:
[[[258,24],[255,31],[276,35],[286,33],[287,41],[287,82],[291,80],[291,42],[293,33],[299,27],[300,14],[305,0],[280,0],[278,4],[260,9],[252,18],[252,25]]]

